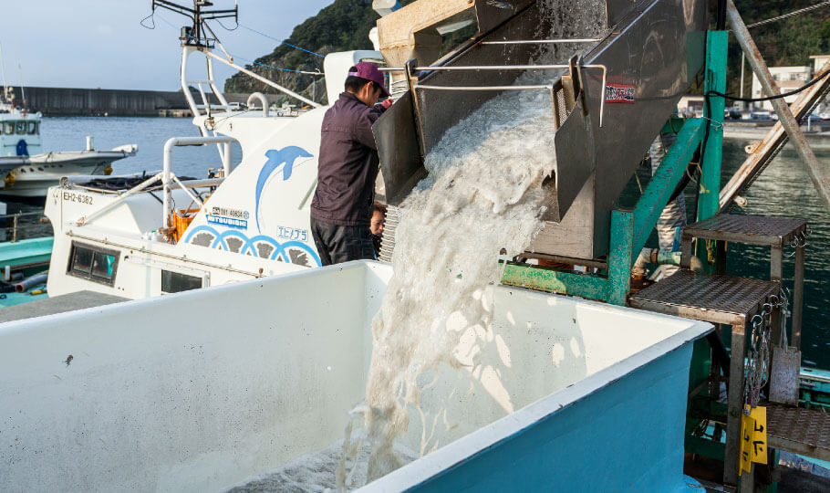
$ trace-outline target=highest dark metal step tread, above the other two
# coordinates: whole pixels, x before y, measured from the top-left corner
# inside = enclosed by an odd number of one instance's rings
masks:
[[[713,215],[699,223],[685,226],[684,235],[698,238],[749,243],[783,245],[806,229],[803,219],[764,215]]]

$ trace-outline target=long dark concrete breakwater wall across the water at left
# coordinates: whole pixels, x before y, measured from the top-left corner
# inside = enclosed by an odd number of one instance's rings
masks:
[[[45,116],[191,116],[187,100],[179,91],[135,89],[74,89],[15,87],[18,103]],[[225,94],[229,102],[244,102],[247,94]],[[193,93],[201,102],[202,96]],[[211,98],[212,104],[217,104]]]

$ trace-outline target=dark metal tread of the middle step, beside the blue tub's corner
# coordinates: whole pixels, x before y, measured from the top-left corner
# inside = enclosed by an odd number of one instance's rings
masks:
[[[648,309],[742,329],[768,297],[777,294],[776,281],[714,276],[681,269],[631,295],[632,308]]]

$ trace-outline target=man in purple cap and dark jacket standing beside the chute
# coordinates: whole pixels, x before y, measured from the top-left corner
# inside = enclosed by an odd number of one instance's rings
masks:
[[[323,118],[311,236],[324,266],[375,258],[369,224],[380,160],[372,124],[391,104],[376,106],[381,95],[389,96],[383,74],[360,62]]]

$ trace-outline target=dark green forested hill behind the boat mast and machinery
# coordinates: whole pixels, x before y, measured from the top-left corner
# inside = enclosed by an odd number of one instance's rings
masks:
[[[411,0],[410,0],[411,1]],[[409,4],[403,1],[401,4]],[[792,12],[821,0],[735,0],[744,22],[750,25],[774,16]],[[372,10],[371,0],[335,0],[313,17],[296,26],[286,43],[302,47],[318,55],[333,51],[371,49],[369,30],[375,26],[378,15]],[[755,43],[761,49],[764,59],[771,66],[810,65],[810,55],[830,53],[830,7],[823,7],[801,16],[793,16],[765,26],[751,29]],[[294,70],[316,71],[323,69],[323,58],[301,49],[281,44],[271,53],[255,61],[271,67]],[[741,49],[730,39],[729,88],[737,90],[740,77]],[[249,65],[247,68],[274,80],[288,89],[326,102],[326,90],[320,77],[300,75],[293,72]],[[749,70],[749,68],[747,68]],[[749,73],[749,72],[748,72]],[[312,88],[316,80],[316,90]],[[752,76],[747,77],[749,86]],[[236,74],[225,82],[225,92],[250,93],[262,91],[273,93],[275,89],[266,86],[244,74]]]

